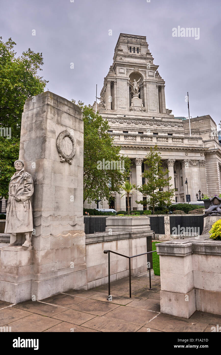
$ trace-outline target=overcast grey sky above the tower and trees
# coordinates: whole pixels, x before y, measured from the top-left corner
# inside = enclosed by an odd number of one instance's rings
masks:
[[[188,91],[191,116],[220,122],[220,0],[1,0],[0,7],[4,42],[11,37],[18,55],[42,52],[46,90],[92,104],[119,34],[142,35],[165,80],[166,108],[188,116]],[[172,37],[178,26],[199,28],[199,39]]]

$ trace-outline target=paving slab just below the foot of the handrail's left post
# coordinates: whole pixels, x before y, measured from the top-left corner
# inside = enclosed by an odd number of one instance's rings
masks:
[[[94,314],[96,316],[103,316],[107,312],[114,310],[119,307],[119,305],[115,305],[111,302],[101,302],[96,300],[86,300],[77,305],[72,306],[71,308],[76,311],[86,312],[90,314]]]

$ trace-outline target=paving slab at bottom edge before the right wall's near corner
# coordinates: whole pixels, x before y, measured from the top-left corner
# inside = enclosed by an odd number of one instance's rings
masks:
[[[130,307],[127,307],[130,308]],[[203,332],[208,324],[160,313],[145,327],[162,332]]]

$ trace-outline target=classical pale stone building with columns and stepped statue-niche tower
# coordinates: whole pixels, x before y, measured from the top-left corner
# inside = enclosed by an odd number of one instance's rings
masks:
[[[221,147],[217,127],[209,115],[189,120],[175,118],[165,104],[165,81],[148,49],[145,36],[121,33],[114,50],[113,64],[104,78],[101,102],[97,109],[107,119],[114,144],[121,154],[131,159],[130,182],[145,183],[142,172],[149,148],[160,149],[163,166],[168,168],[175,188],[174,202],[186,202],[188,194],[196,201],[196,193],[221,192]],[[93,105],[95,109],[95,103]],[[112,194],[112,200],[99,203],[99,208],[126,209],[128,201]],[[140,192],[130,195],[132,209],[141,208]],[[96,208],[96,203],[85,207]]]

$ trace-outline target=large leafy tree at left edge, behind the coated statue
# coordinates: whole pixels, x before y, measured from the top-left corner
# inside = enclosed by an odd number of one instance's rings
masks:
[[[8,198],[8,184],[18,159],[21,119],[25,100],[44,92],[46,80],[38,75],[42,70],[42,53],[30,48],[16,57],[15,42],[6,43],[0,37],[0,197]],[[6,137],[4,132],[11,132]]]

